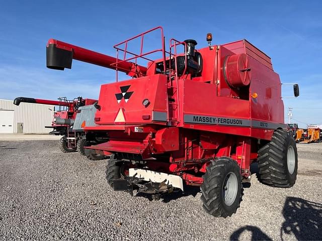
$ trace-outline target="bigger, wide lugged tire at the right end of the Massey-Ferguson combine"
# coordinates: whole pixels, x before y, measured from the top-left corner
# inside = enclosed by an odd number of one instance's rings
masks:
[[[297,149],[290,132],[276,130],[258,151],[259,181],[273,187],[292,187],[297,176]]]

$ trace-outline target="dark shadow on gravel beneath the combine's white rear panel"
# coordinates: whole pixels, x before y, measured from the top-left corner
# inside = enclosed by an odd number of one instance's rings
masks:
[[[195,197],[197,195],[197,193],[200,192],[200,187],[184,186],[184,190],[185,190],[184,192],[178,191],[178,192],[172,192],[172,193],[163,194],[161,200],[162,200],[162,202],[167,203],[167,202],[170,202],[172,200],[176,200],[176,199],[179,199],[181,197],[186,197],[186,196],[190,196],[190,195]],[[139,192],[135,196],[137,196],[137,197],[145,197],[145,198],[149,199],[149,201],[153,200],[152,195],[148,194],[148,193]]]

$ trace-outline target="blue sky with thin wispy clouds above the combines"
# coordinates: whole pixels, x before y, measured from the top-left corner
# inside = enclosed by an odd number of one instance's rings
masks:
[[[246,38],[272,58],[282,82],[300,96],[284,99],[293,122],[322,124],[322,1],[1,1],[0,98],[97,98],[115,71],[73,61],[46,68],[50,38],[115,56],[113,45],[155,26],[166,39],[195,39],[205,47]],[[168,42],[168,41],[167,41]],[[291,87],[283,88],[291,95]]]

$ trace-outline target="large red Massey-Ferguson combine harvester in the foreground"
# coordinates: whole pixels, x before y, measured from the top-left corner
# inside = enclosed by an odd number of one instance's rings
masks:
[[[160,47],[144,51],[144,37],[154,31]],[[138,53],[127,49],[132,40],[141,43]],[[49,40],[47,66],[63,70],[76,59],[116,69],[116,82],[101,86],[96,126],[84,127],[108,138],[88,148],[114,154],[106,170],[114,190],[158,197],[184,184],[200,186],[204,209],[226,217],[239,207],[253,162],[262,183],[293,186],[297,149],[285,130],[271,59],[246,40],[211,45],[211,34],[206,40],[209,46],[196,50],[195,40],[171,39],[166,50],[157,27],[115,45],[116,58]],[[152,60],[156,53],[162,57]],[[146,67],[137,64],[142,60]],[[119,82],[118,71],[132,78]]]

